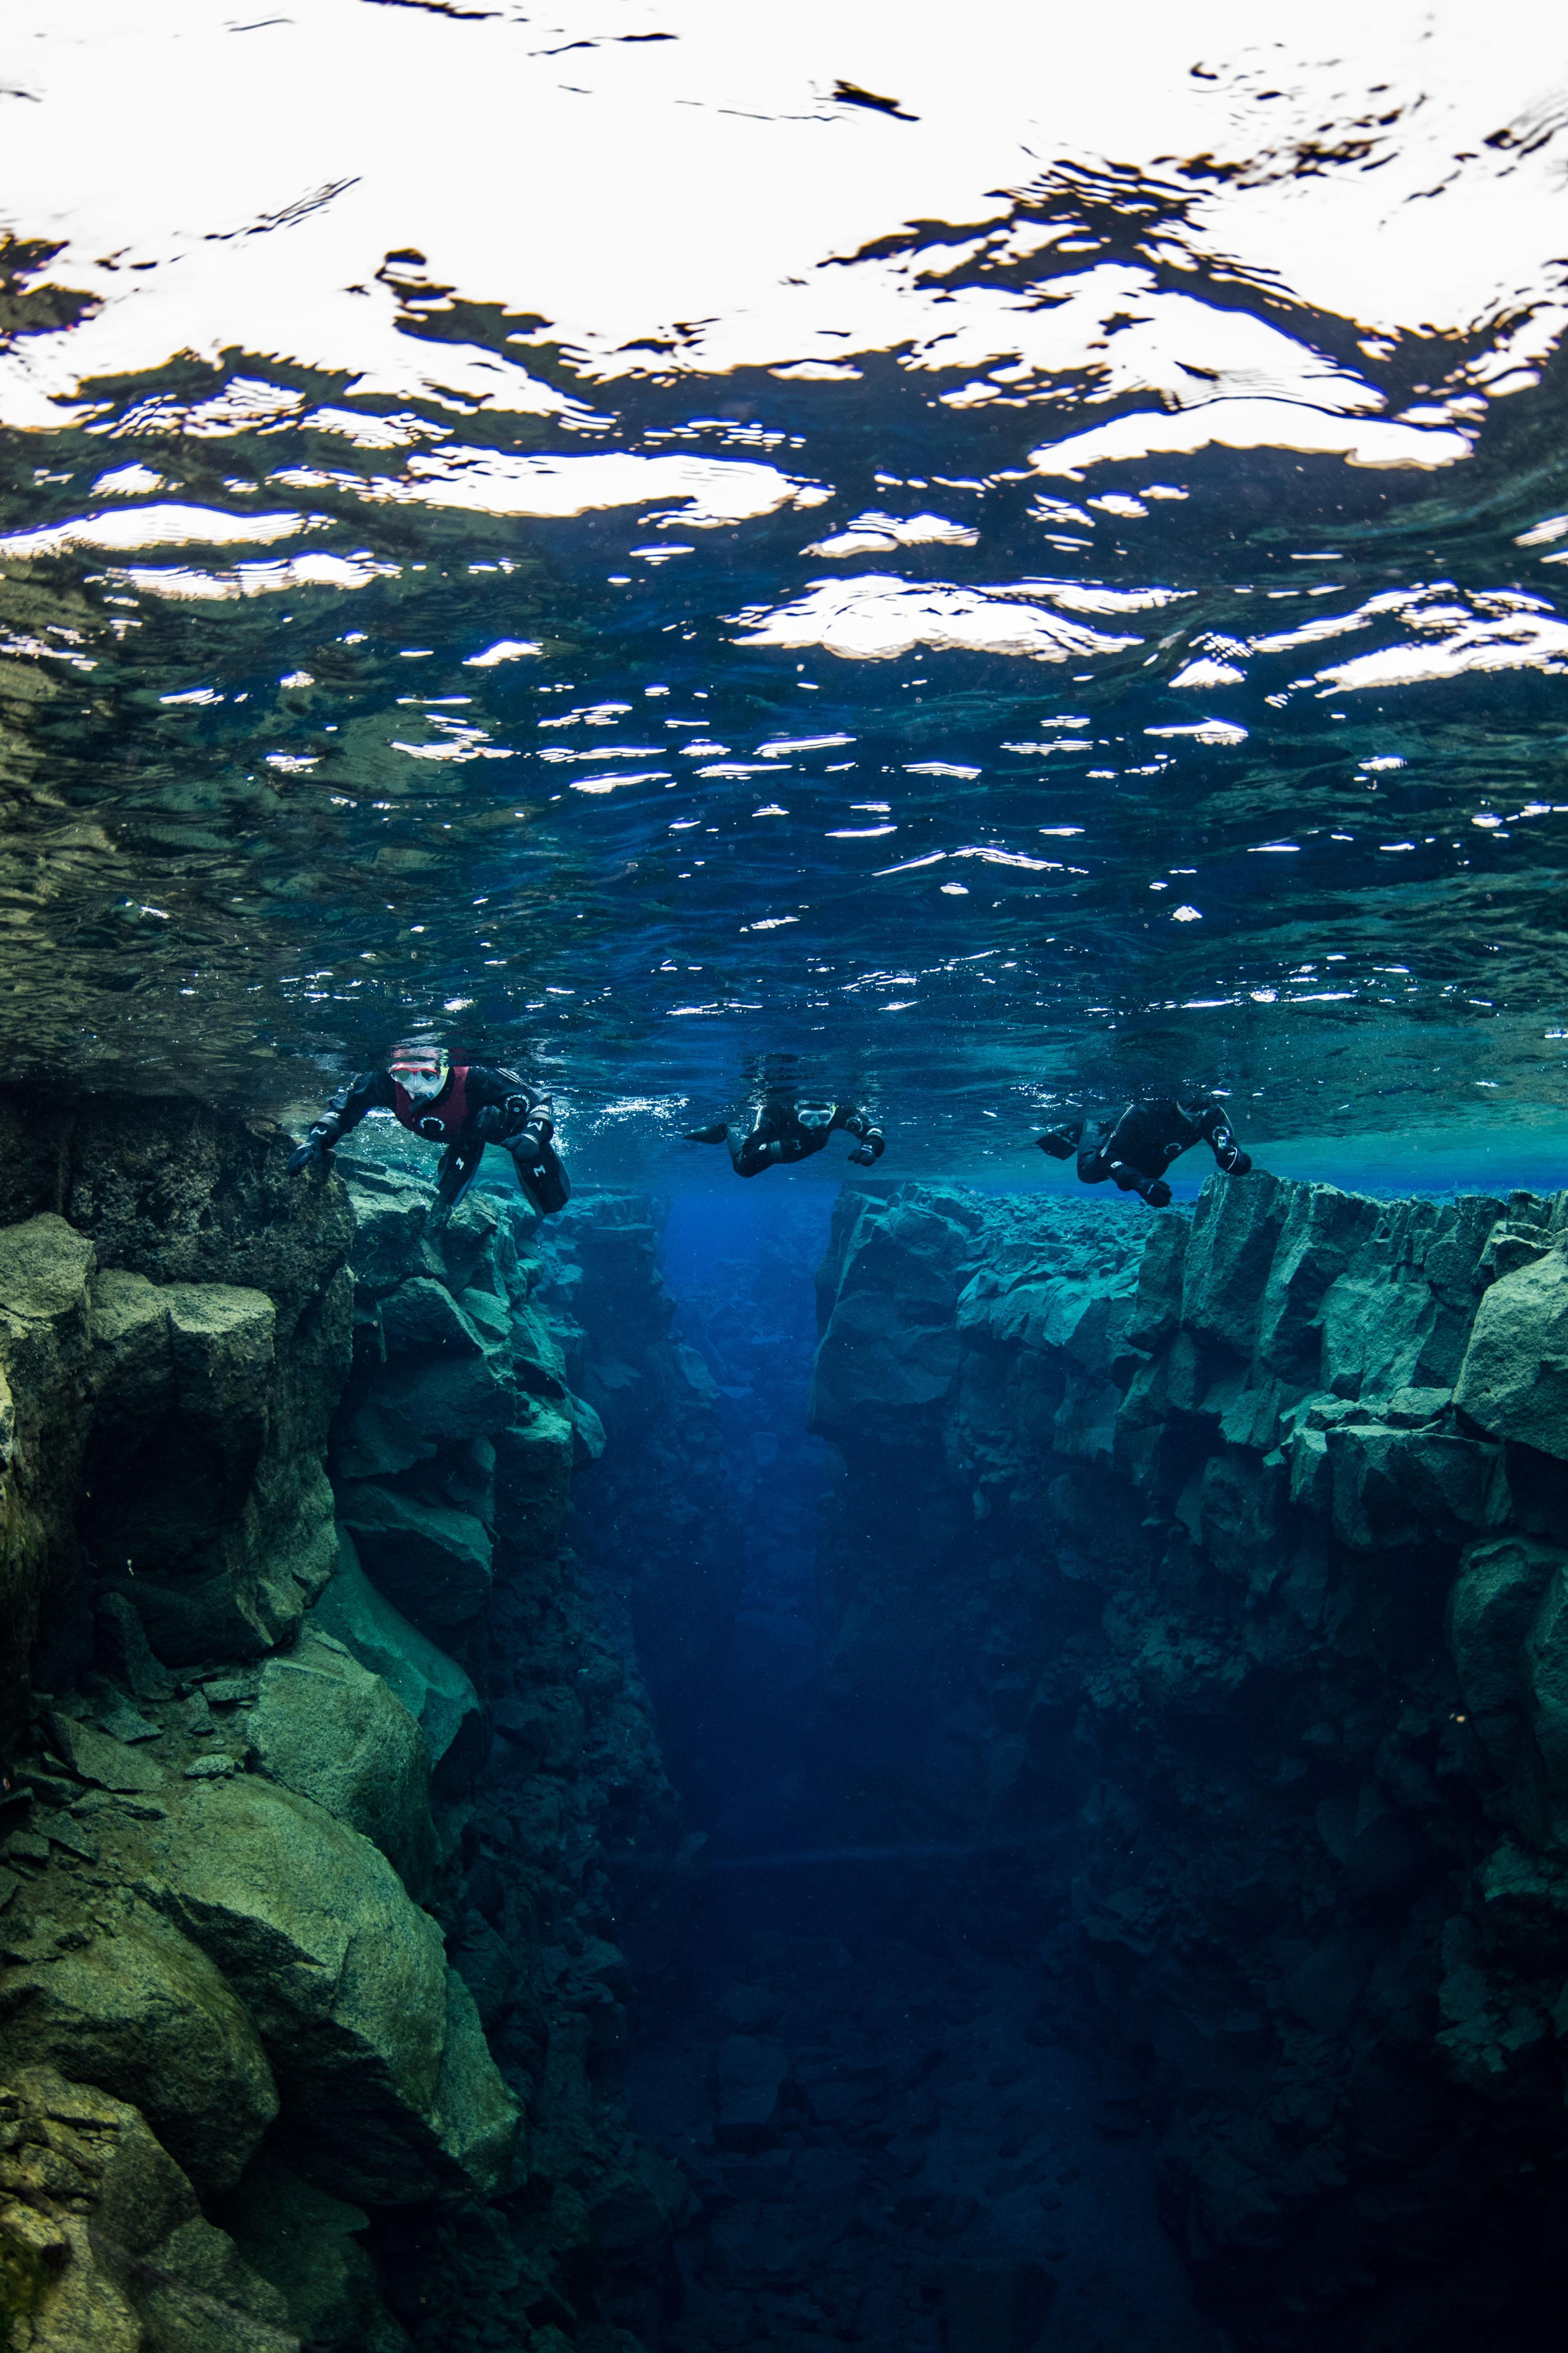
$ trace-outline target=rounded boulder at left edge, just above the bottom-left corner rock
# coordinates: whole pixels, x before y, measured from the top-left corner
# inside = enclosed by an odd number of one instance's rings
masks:
[[[212,1960],[141,1904],[113,1934],[45,1955],[5,1974],[0,2068],[49,2064],[94,2082],[143,2111],[197,2188],[237,2181],[277,2115],[277,2087]]]

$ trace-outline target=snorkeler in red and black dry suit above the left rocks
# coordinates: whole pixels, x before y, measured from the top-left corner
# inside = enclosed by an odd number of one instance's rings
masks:
[[[517,1184],[541,1217],[571,1200],[571,1179],[552,1144],[550,1096],[529,1094],[515,1071],[494,1071],[482,1061],[451,1064],[435,1045],[397,1045],[386,1071],[364,1071],[341,1087],[289,1155],[289,1169],[322,1165],[367,1111],[390,1111],[409,1134],[447,1146],[435,1179],[442,1219],[480,1174],[487,1144],[503,1144],[512,1155]]]

